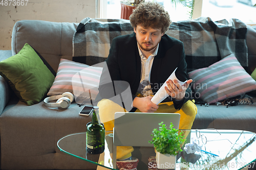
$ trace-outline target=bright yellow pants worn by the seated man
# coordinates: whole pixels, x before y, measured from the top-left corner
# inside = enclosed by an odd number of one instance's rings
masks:
[[[98,103],[98,107],[100,121],[104,124],[106,131],[113,131],[116,112],[127,112],[120,105],[109,99],[102,99]],[[137,109],[136,112],[140,112],[140,110]],[[188,100],[183,104],[180,110],[176,110],[173,102],[166,102],[159,104],[159,108],[157,109],[156,113],[179,113],[179,129],[191,129],[197,114],[197,107],[192,101]],[[187,135],[188,134],[184,134],[184,137]],[[125,159],[126,157],[130,157],[133,150],[133,147],[118,147],[117,159]]]

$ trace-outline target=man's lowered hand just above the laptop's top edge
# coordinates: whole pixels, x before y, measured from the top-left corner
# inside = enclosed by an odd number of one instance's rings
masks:
[[[133,107],[138,108],[141,112],[153,113],[158,109],[158,105],[151,102],[152,96],[144,98],[134,98]]]

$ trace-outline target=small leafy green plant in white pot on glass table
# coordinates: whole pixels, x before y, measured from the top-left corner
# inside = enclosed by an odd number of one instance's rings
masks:
[[[170,123],[169,129],[163,122],[158,124],[159,130],[154,129],[153,140],[148,141],[154,144],[156,150],[156,161],[159,167],[163,165],[174,165],[176,163],[176,155],[182,151],[182,143],[186,139],[182,136],[183,132],[178,133],[178,129],[173,128],[173,123]]]

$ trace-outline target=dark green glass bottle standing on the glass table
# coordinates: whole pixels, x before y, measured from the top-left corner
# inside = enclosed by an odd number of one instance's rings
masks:
[[[101,154],[105,149],[105,128],[98,119],[99,107],[93,108],[92,122],[87,124],[86,151],[90,154]]]

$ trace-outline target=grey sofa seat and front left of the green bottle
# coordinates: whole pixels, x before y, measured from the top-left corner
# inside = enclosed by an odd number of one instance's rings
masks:
[[[86,131],[91,116],[79,115],[80,109],[76,103],[60,110],[11,100],[0,119],[2,169],[95,169],[57,148],[61,137]]]

